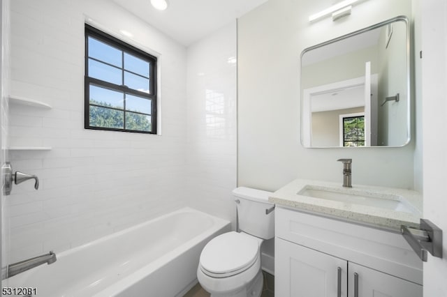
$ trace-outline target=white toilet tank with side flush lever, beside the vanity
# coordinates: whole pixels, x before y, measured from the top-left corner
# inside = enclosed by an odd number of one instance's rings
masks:
[[[259,238],[274,237],[274,211],[266,214],[274,204],[268,201],[272,192],[239,187],[233,190],[240,231]]]

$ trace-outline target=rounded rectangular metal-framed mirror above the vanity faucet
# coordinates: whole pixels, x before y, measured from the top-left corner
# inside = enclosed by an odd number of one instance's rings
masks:
[[[301,54],[302,145],[408,144],[409,49],[406,17],[305,49]]]

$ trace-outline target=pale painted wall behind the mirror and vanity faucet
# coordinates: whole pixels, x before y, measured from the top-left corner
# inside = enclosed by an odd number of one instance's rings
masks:
[[[411,15],[406,0],[362,1],[337,22],[309,23],[330,0],[270,0],[238,22],[238,185],[277,190],[294,178],[342,182],[339,158],[353,159],[353,184],[414,188],[414,140],[402,148],[303,148],[300,53],[306,47]]]

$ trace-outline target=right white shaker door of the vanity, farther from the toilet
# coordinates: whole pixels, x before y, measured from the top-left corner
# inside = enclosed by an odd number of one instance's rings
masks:
[[[422,297],[423,287],[349,262],[349,297]],[[356,286],[356,276],[357,283]],[[356,288],[357,287],[357,288]],[[358,293],[356,293],[358,291]]]

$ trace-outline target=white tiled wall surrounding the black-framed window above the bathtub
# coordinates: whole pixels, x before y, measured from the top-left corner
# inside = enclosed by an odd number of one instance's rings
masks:
[[[10,262],[61,252],[186,205],[186,49],[112,1],[11,1],[13,169],[36,174],[6,203]],[[161,135],[84,129],[84,24],[159,56]],[[128,38],[119,33],[133,34]]]

